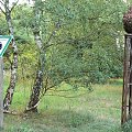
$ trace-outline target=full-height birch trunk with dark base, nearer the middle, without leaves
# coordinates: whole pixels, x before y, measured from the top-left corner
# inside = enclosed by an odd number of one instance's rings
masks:
[[[43,50],[43,42],[41,38],[41,29],[40,29],[40,15],[41,14],[40,14],[38,8],[36,7],[37,2],[42,2],[42,1],[38,0],[38,1],[35,1],[35,3],[34,3],[34,10],[33,10],[34,22],[32,23],[32,32],[34,35],[35,44],[37,45],[38,51],[40,51],[38,67],[36,70],[34,85],[32,88],[30,101],[25,109],[25,112],[26,111],[37,112],[37,105],[40,101],[40,92],[43,87],[43,70],[44,70],[44,63],[45,63],[45,51]]]

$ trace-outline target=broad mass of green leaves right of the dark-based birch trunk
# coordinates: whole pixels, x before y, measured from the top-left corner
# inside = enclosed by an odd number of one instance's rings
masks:
[[[106,82],[110,77],[122,76],[123,48],[117,47],[116,38],[122,31],[123,2],[53,0],[45,4],[53,20],[59,18],[63,25],[52,42],[55,45],[64,41],[63,46],[51,48],[55,81],[74,77],[85,78],[87,82]]]

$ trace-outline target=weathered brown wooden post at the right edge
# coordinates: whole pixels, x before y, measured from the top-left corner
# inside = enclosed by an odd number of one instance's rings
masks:
[[[132,34],[125,34],[121,124],[132,118]]]

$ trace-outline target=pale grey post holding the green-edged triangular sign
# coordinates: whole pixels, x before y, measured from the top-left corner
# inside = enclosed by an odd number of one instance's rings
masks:
[[[0,130],[3,128],[3,64],[0,57]]]

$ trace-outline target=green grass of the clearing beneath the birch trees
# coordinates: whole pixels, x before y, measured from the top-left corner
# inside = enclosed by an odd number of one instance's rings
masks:
[[[4,86],[7,87],[7,82]],[[66,84],[62,85],[63,89],[69,87]],[[68,91],[70,97],[87,92],[77,98],[45,96],[38,106],[38,113],[23,114],[31,86],[21,81],[18,84],[11,106],[18,114],[4,114],[3,132],[122,132],[120,127],[122,81],[111,80],[107,85],[92,87],[94,91],[90,94],[86,89]],[[51,92],[50,91],[47,95]],[[129,125],[124,128],[128,130],[125,132],[132,132]]]

